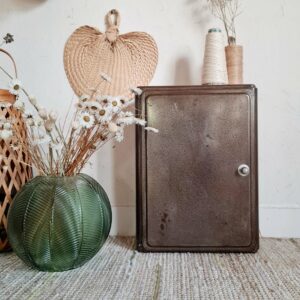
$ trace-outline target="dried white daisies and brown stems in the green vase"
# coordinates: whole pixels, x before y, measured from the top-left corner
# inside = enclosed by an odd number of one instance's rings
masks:
[[[0,120],[0,139],[14,140],[11,145],[14,150],[27,151],[32,166],[40,175],[73,176],[82,170],[89,158],[106,142],[111,139],[121,142],[126,126],[146,125],[145,120],[136,118],[131,111],[126,110],[134,99],[99,96],[101,84],[112,81],[104,73],[99,74],[102,81],[89,95],[77,99],[73,116],[68,117],[72,110],[70,107],[63,122],[59,122],[56,112],[47,111],[35,97],[28,94],[18,79],[1,66],[0,70],[10,78],[9,91],[17,97],[14,104],[1,105],[13,105],[21,110],[27,124],[28,140],[24,141],[18,136],[13,119]],[[138,88],[130,90],[133,97],[141,93]],[[28,110],[20,100],[21,93],[27,97],[33,111]],[[158,132],[150,127],[145,129]]]

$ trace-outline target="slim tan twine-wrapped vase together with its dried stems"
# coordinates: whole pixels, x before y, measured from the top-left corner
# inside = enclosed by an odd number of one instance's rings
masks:
[[[226,62],[229,84],[243,83],[243,47],[236,45],[236,18],[241,14],[239,0],[207,0],[214,16],[219,18],[227,34]]]

